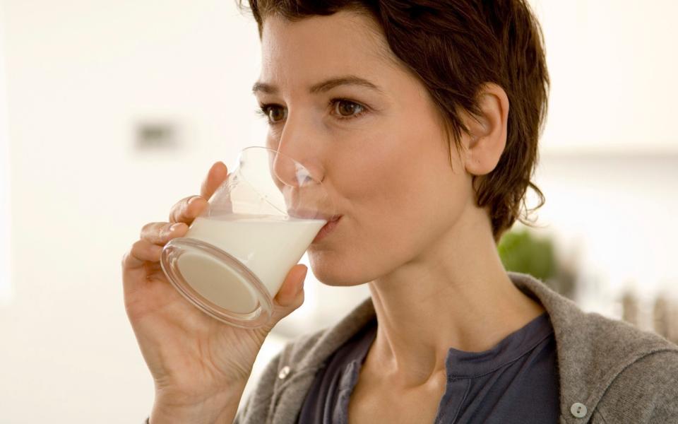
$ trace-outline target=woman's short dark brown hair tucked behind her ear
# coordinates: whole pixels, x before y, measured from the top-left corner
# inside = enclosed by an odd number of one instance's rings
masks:
[[[468,133],[458,111],[480,114],[477,93],[484,83],[504,88],[511,105],[506,148],[492,172],[473,177],[477,206],[489,209],[496,242],[516,220],[533,223],[529,213],[545,203],[530,179],[549,74],[542,30],[525,0],[249,0],[249,10],[260,37],[271,14],[293,21],[340,10],[367,13],[381,25],[393,54],[426,86],[457,149],[461,131]],[[528,187],[539,197],[533,209],[525,204]]]

